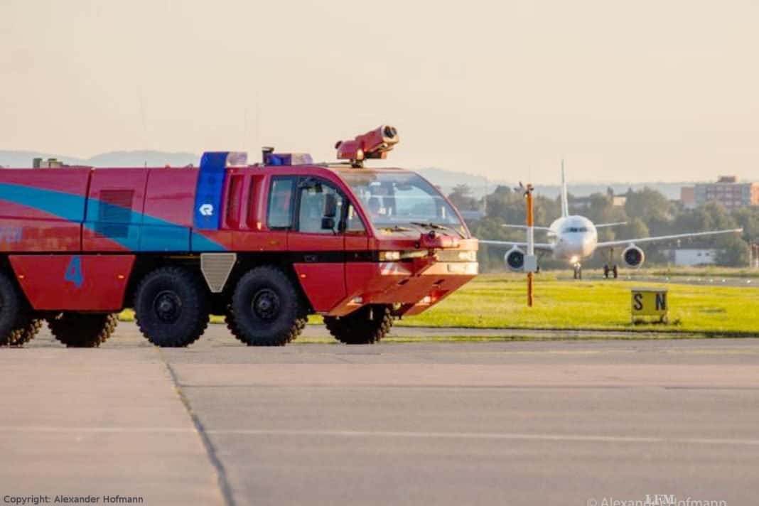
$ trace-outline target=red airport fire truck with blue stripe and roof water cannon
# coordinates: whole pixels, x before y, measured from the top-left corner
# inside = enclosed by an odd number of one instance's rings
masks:
[[[0,344],[46,321],[96,347],[134,308],[153,344],[182,347],[225,316],[245,344],[296,338],[310,314],[370,344],[477,275],[477,240],[436,187],[366,168],[393,127],[337,143],[338,163],[263,149],[200,167],[0,169]]]

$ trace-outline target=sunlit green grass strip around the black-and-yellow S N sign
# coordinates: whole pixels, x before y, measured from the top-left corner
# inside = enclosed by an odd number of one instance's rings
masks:
[[[399,325],[472,328],[562,328],[759,334],[759,290],[641,281],[535,282],[526,304],[524,276],[481,275],[437,306]],[[630,289],[669,288],[669,325],[631,325]]]

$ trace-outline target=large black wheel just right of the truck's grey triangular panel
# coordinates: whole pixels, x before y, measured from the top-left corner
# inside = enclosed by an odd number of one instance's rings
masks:
[[[295,284],[276,267],[247,272],[235,287],[227,326],[249,346],[283,346],[303,330],[304,303]]]

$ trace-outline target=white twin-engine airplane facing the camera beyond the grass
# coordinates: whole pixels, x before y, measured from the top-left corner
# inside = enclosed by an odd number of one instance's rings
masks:
[[[617,278],[619,271],[613,263],[615,248],[623,248],[622,261],[625,266],[631,269],[638,269],[643,265],[645,254],[638,244],[652,243],[664,240],[679,240],[688,237],[703,237],[716,234],[741,233],[742,228],[732,228],[729,230],[716,230],[707,232],[691,232],[689,234],[661,235],[658,237],[639,237],[637,239],[609,240],[598,242],[598,229],[605,227],[614,227],[625,225],[626,222],[619,223],[600,223],[594,224],[588,218],[580,215],[569,214],[569,203],[567,199],[567,184],[564,175],[564,163],[562,162],[562,215],[556,219],[550,227],[534,227],[536,231],[545,231],[548,234],[547,243],[534,243],[534,249],[538,253],[551,253],[554,259],[565,260],[575,270],[575,279],[582,279],[582,264],[584,258],[593,256],[596,250],[609,251],[609,263],[603,266],[603,277],[609,278],[613,275]],[[526,225],[503,225],[510,228],[527,229]],[[524,249],[527,248],[526,242],[513,242],[510,240],[480,240],[480,244],[490,244],[493,246],[511,247],[503,256],[506,267],[512,271],[519,271],[524,267]]]

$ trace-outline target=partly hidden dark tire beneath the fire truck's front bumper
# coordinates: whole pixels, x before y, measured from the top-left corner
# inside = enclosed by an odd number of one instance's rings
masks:
[[[364,306],[348,316],[325,316],[324,324],[335,339],[345,344],[373,344],[392,328],[389,306]]]

